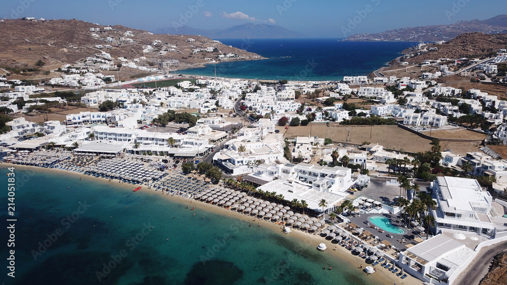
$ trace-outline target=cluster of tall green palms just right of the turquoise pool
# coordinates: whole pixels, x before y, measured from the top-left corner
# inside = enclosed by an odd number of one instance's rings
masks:
[[[435,222],[435,217],[431,215],[431,212],[437,208],[437,202],[433,200],[431,195],[419,192],[417,193],[417,199],[413,199],[412,202],[404,197],[400,197],[396,200],[395,204],[401,208],[402,212],[400,216],[407,223],[407,226],[414,218],[420,224],[426,226],[426,232],[429,235],[429,229]],[[408,220],[407,215],[409,217]],[[428,235],[426,235],[426,239]]]

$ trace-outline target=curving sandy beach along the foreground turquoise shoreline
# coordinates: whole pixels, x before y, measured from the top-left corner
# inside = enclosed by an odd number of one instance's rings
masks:
[[[132,194],[133,185],[126,184],[126,183],[118,183],[118,181],[112,180],[111,182],[108,182],[108,179],[104,178],[95,178],[87,175],[83,175],[80,173],[75,173],[71,171],[64,171],[64,170],[55,170],[55,169],[41,169],[41,168],[35,168],[35,167],[29,167],[29,166],[19,166],[19,165],[11,165],[11,164],[2,164],[2,167],[15,167],[17,171],[23,171],[28,173],[28,170],[34,170],[37,172],[47,173],[47,174],[57,174],[58,176],[65,176],[68,178],[68,180],[74,180],[79,181],[79,183],[82,183],[82,187],[84,187],[89,182],[95,182],[100,181],[100,183],[111,185],[111,187],[117,188],[117,190],[125,191],[126,194]],[[83,179],[82,182],[81,178]],[[78,180],[79,179],[79,180]],[[77,188],[77,185],[69,184],[68,187],[72,189],[79,189]],[[192,200],[189,198],[184,198],[178,195],[166,195],[162,194],[160,191],[155,191],[154,189],[148,189],[148,187],[143,186],[139,191],[135,192],[135,195],[146,195],[149,197],[153,197],[155,199],[160,199],[160,196],[164,196],[165,198],[162,198],[163,201],[167,201],[166,203],[177,203],[182,208],[184,206],[192,206],[195,208],[193,211],[196,214],[196,218],[199,218],[199,212],[204,211],[206,213],[212,213],[213,216],[216,217],[224,217],[224,218],[232,218],[237,222],[237,226],[240,228],[240,231],[245,230],[262,230],[262,231],[269,231],[270,234],[274,234],[277,236],[275,239],[284,239],[286,241],[289,241],[289,244],[292,245],[293,251],[296,254],[300,254],[298,251],[300,250],[301,253],[306,253],[308,251],[308,247],[311,249],[313,248],[312,254],[318,254],[322,257],[328,256],[328,260],[339,260],[342,263],[349,264],[352,272],[349,272],[350,274],[360,276],[361,279],[365,280],[367,283],[381,283],[381,284],[394,284],[396,282],[397,284],[417,284],[421,283],[420,280],[415,279],[411,276],[408,276],[405,279],[400,279],[400,277],[395,276],[395,274],[392,274],[391,272],[387,271],[387,269],[381,268],[380,266],[377,266],[377,272],[370,275],[362,272],[360,268],[360,265],[364,263],[364,259],[361,259],[357,256],[353,256],[350,251],[346,250],[345,248],[338,246],[337,250],[333,250],[335,248],[335,244],[331,241],[325,240],[324,238],[316,235],[312,235],[309,233],[301,232],[299,230],[293,230],[290,234],[284,234],[280,228],[280,225],[276,225],[274,223],[271,223],[269,221],[261,221],[261,228],[258,228],[258,220],[256,222],[253,222],[253,217],[243,215],[240,213],[237,213],[236,211],[227,210],[225,208],[216,207],[213,205],[209,205],[205,202],[200,202],[197,200]],[[163,202],[162,201],[162,202]],[[206,215],[206,218],[209,215]],[[179,217],[178,217],[179,218]],[[202,218],[204,220],[204,218]],[[211,219],[211,218],[210,218]],[[214,219],[214,218],[213,218]],[[251,227],[248,226],[248,224],[252,224]],[[325,252],[318,252],[316,250],[316,246],[324,242],[328,250]],[[299,245],[299,246],[298,246]],[[332,262],[328,262],[327,264],[322,264],[323,266],[334,266],[333,268],[336,270],[340,270],[339,265],[334,265]],[[355,269],[353,269],[355,268]],[[364,268],[364,267],[363,267]],[[356,270],[356,272],[353,272],[353,270]]]

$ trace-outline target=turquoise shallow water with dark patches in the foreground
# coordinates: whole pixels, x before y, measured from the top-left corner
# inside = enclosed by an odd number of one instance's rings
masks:
[[[0,182],[7,184],[6,172],[0,167]],[[249,227],[196,203],[190,211],[146,189],[133,193],[131,186],[87,176],[80,181],[27,168],[17,168],[16,175],[27,181],[17,185],[15,196],[16,278],[3,278],[5,284],[98,284],[97,272],[104,274],[98,274],[100,284],[376,283],[372,275],[318,252],[316,244]],[[0,213],[5,223],[8,216]],[[0,258],[6,260],[2,244]]]

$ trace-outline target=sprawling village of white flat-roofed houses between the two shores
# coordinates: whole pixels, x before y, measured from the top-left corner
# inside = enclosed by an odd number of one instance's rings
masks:
[[[454,280],[473,258],[468,255],[471,246],[456,239],[475,233],[480,235],[478,242],[507,237],[503,212],[495,210],[497,204],[500,208],[504,205],[492,198],[505,195],[507,160],[488,147],[507,144],[507,99],[477,88],[439,83],[445,76],[468,74],[463,76],[470,76],[474,83],[505,84],[505,49],[482,59],[425,60],[420,64],[434,70],[417,76],[383,76],[379,72],[379,76],[345,76],[340,82],[259,82],[168,74],[188,64],[175,56],[167,57],[181,55],[179,46],[151,40],[146,34],[145,42],[137,43],[142,45],[140,53],[119,56],[115,48],[136,43],[138,31],[86,28],[87,34],[96,38],[96,45],[68,44],[59,49],[65,53],[83,47],[93,53],[74,63],[54,66],[50,74],[59,76],[40,84],[15,79],[8,70],[0,77],[0,109],[12,116],[3,114],[4,126],[0,126],[4,131],[1,151],[9,161],[61,167],[63,159],[46,164],[29,156],[58,151],[84,157],[135,158],[161,173],[178,167],[183,172],[193,171],[194,165],[205,162],[220,169],[218,176],[209,177],[212,183],[219,183],[222,177],[239,178],[257,186],[256,191],[275,193],[286,201],[304,201],[303,208],[322,212],[322,217],[337,212],[342,222],[351,222],[354,216],[342,215],[344,201],[361,213],[400,214],[409,207],[409,200],[418,201],[419,183],[427,182],[434,195],[429,198],[434,205],[424,214],[432,217],[432,222],[424,222],[426,236],[434,233],[428,241],[439,247],[451,244],[447,252],[460,258],[428,256],[424,251],[428,242],[421,238],[420,243],[394,253],[391,259],[421,280],[430,275],[442,284]],[[117,35],[111,36],[112,31]],[[196,42],[187,36],[181,43],[209,63],[246,59],[239,53],[221,51],[217,48],[220,43],[193,47]],[[418,47],[419,53],[425,53],[424,47]],[[105,74],[123,67],[154,75],[122,81]],[[172,84],[164,86],[168,80]],[[151,84],[160,86],[148,86]],[[61,121],[30,120],[31,115],[45,116],[66,107],[80,111],[66,113]],[[312,136],[311,129],[309,134],[294,138],[284,136],[288,128],[305,126],[368,126],[370,132],[374,126],[397,126],[407,134],[423,137],[428,144],[431,141],[431,147],[408,152],[373,141],[351,144]],[[458,153],[442,149],[440,140],[431,136],[432,132],[462,129],[486,137],[484,145]],[[18,153],[32,154],[23,156],[26,159],[14,158]],[[168,165],[168,161],[174,164]],[[356,198],[358,188],[368,187],[372,178],[383,179],[385,185],[399,187],[400,192],[403,188],[404,194],[396,199],[407,203]],[[152,181],[146,178],[144,182]],[[422,234],[423,230],[419,231]],[[454,235],[456,232],[460,235]]]

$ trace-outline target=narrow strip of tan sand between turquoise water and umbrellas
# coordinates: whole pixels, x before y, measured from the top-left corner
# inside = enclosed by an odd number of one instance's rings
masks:
[[[108,182],[109,180],[105,179],[105,178],[96,178],[96,177],[76,173],[73,171],[65,171],[65,170],[59,170],[59,169],[45,169],[45,168],[39,168],[39,167],[33,167],[33,166],[21,166],[21,165],[14,165],[14,164],[8,164],[8,163],[4,163],[3,165],[6,167],[15,167],[16,169],[19,169],[21,171],[37,170],[38,172],[52,172],[52,173],[57,172],[57,173],[61,173],[62,175],[71,175],[71,176],[75,176],[75,177],[81,177],[83,179],[83,183],[86,183],[87,180],[90,181],[93,179],[100,179],[103,182],[112,183],[112,186],[114,186],[116,188],[124,188],[125,191],[131,191],[131,188],[134,186],[134,185],[130,185],[127,183],[118,183],[117,180],[111,180],[111,182]],[[77,185],[69,185],[69,187],[72,187],[72,186],[77,186]],[[338,259],[345,261],[346,263],[349,263],[352,265],[356,264],[356,268],[358,271],[357,273],[358,274],[359,273],[365,274],[366,275],[365,279],[371,280],[372,283],[422,284],[421,280],[414,278],[410,275],[408,275],[407,278],[405,278],[405,279],[401,279],[400,277],[391,273],[387,269],[384,269],[383,267],[378,266],[378,265],[375,267],[377,269],[377,272],[374,274],[370,275],[370,274],[361,272],[363,269],[360,268],[360,265],[363,264],[363,268],[365,266],[367,266],[364,259],[352,255],[350,251],[346,250],[344,247],[341,247],[341,246],[338,246],[337,249],[334,250],[335,246],[336,246],[334,243],[332,243],[330,240],[326,240],[318,235],[312,235],[312,234],[309,234],[306,232],[302,232],[300,230],[293,230],[290,234],[284,234],[282,232],[282,227],[280,225],[276,225],[272,222],[265,221],[265,220],[261,220],[261,221],[257,220],[256,222],[252,222],[252,217],[249,215],[243,215],[243,214],[238,213],[236,211],[231,211],[231,210],[228,210],[225,208],[216,207],[216,206],[213,206],[213,205],[210,205],[208,203],[201,202],[198,200],[192,200],[192,204],[190,204],[191,199],[189,199],[189,198],[185,198],[185,197],[182,197],[179,195],[171,196],[171,195],[167,195],[165,193],[162,194],[160,191],[155,191],[154,189],[148,189],[148,187],[144,186],[144,185],[137,193],[138,194],[146,194],[146,195],[163,196],[165,199],[171,200],[173,202],[181,203],[182,205],[192,205],[192,207],[196,208],[195,213],[198,213],[197,211],[199,209],[202,209],[202,210],[212,212],[212,213],[215,213],[215,214],[218,214],[221,216],[227,216],[227,217],[230,217],[230,218],[233,218],[236,220],[244,221],[245,223],[255,223],[256,226],[260,222],[261,227],[267,228],[277,234],[280,234],[280,235],[284,236],[284,238],[298,240],[300,242],[304,242],[309,245],[314,245],[315,248],[317,247],[317,245],[319,243],[323,242],[328,247],[328,250],[323,252],[322,254],[332,255],[335,258],[338,258]],[[322,266],[324,266],[324,265],[325,264],[323,264]]]

